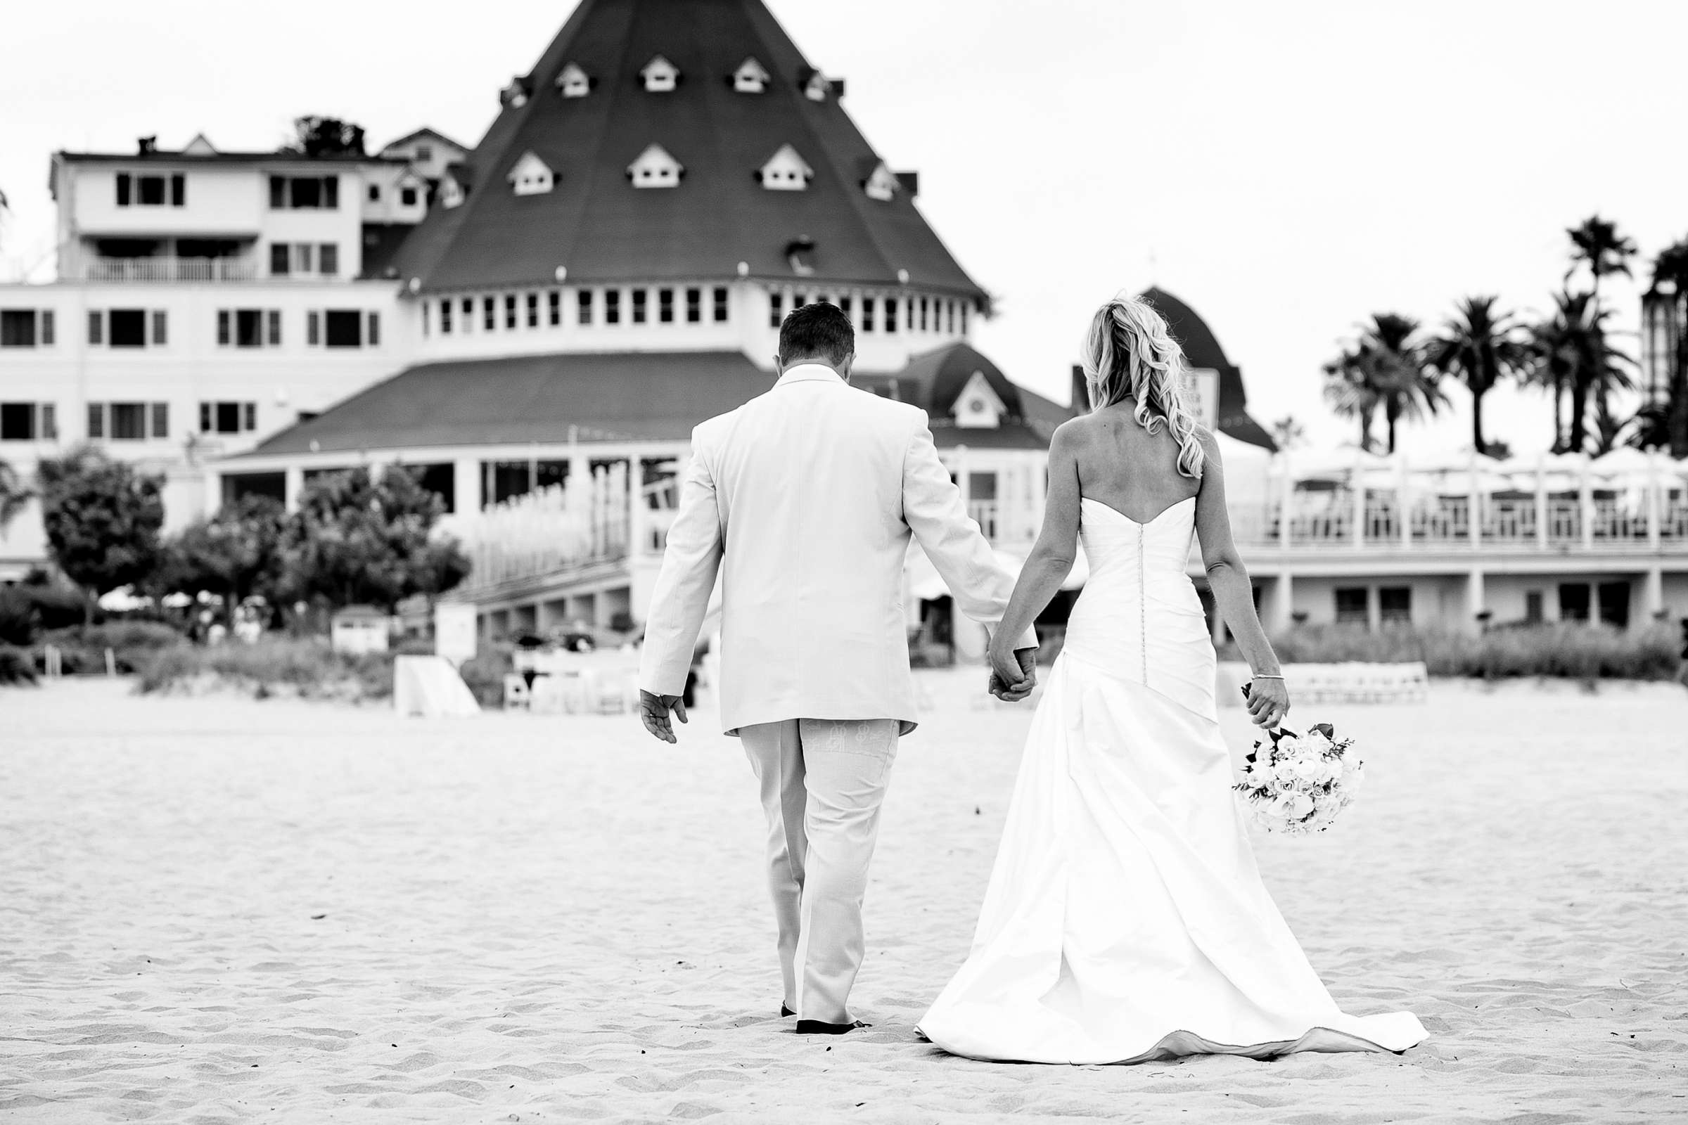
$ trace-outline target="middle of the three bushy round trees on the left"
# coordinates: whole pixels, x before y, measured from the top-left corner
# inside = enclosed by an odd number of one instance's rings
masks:
[[[235,607],[248,597],[273,600],[287,514],[268,496],[243,496],[209,519],[177,535],[154,585],[164,592],[223,595],[223,616],[235,627]]]

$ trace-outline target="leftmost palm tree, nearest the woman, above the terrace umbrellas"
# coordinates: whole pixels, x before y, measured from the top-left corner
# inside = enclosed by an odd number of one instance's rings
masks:
[[[1325,400],[1342,417],[1361,418],[1362,447],[1371,447],[1371,415],[1382,408],[1389,427],[1389,452],[1396,425],[1436,413],[1448,398],[1440,374],[1425,364],[1425,349],[1413,339],[1418,320],[1394,312],[1374,314],[1357,347],[1325,364]]]

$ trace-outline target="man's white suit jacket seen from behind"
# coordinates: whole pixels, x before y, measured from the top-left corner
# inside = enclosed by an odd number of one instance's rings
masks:
[[[903,611],[913,535],[957,606],[994,629],[1014,575],[939,462],[927,413],[792,368],[692,430],[645,621],[640,686],[679,695],[721,572],[721,725],[898,719],[915,727]],[[1016,648],[1036,644],[1028,631]]]

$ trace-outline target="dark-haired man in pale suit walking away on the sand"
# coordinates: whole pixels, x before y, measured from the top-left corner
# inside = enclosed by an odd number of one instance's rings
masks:
[[[1014,579],[967,518],[918,406],[849,386],[856,332],[834,305],[780,326],[778,383],[692,432],[680,509],[640,659],[645,729],[670,712],[721,572],[721,725],[761,783],[782,1015],[844,1034],[863,958],[861,902],[900,735],[915,729],[903,612],[908,538],[962,611],[994,627]],[[1023,678],[991,690],[1025,698]]]

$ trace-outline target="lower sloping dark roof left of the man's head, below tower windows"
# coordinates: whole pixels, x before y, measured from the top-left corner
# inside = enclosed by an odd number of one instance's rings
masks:
[[[773,374],[743,353],[589,353],[427,363],[289,427],[243,457],[581,439],[685,439]],[[238,457],[236,457],[238,460]]]

